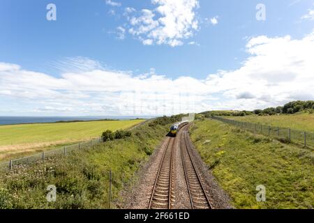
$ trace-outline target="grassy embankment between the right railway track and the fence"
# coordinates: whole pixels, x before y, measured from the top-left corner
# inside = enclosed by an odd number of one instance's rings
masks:
[[[314,207],[312,151],[213,120],[197,121],[191,138],[234,207]],[[266,187],[266,202],[256,201],[257,185]]]

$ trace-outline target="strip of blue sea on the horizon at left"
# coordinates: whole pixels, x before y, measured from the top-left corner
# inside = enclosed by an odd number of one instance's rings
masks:
[[[154,118],[153,116],[0,116],[0,125],[26,123],[56,123],[59,121],[94,121],[103,119],[131,120],[136,118]]]

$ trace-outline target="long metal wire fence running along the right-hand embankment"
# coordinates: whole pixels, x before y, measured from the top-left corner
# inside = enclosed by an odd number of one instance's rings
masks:
[[[255,134],[263,134],[267,137],[276,139],[287,139],[304,147],[314,148],[314,134],[313,132],[305,132],[300,130],[292,130],[290,128],[280,128],[271,125],[261,125],[258,123],[246,123],[242,121],[235,121],[232,119],[211,117],[218,121],[223,121],[230,125],[235,125],[244,130],[254,132]]]

